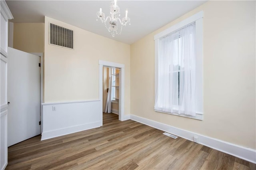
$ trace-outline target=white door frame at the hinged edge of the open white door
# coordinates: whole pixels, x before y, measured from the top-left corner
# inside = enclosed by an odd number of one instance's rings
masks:
[[[42,124],[42,113],[43,113],[43,105],[44,103],[44,92],[43,92],[43,78],[44,78],[44,59],[43,59],[43,53],[30,53],[34,54],[40,57],[40,121],[41,121],[41,134],[43,130],[43,124]]]

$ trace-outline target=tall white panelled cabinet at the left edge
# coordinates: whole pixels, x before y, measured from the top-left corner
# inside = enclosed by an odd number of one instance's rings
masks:
[[[12,14],[4,0],[0,0],[0,170],[4,170],[8,163],[7,147],[7,67],[8,67],[8,20]]]

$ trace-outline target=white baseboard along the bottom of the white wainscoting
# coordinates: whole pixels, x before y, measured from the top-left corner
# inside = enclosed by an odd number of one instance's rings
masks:
[[[77,125],[77,126],[73,126],[73,127],[66,127],[66,128],[61,128],[61,129],[57,129],[57,130],[42,132],[41,140],[55,138],[58,136],[71,134],[71,133],[75,133],[75,132],[80,132],[83,130],[88,130],[88,129],[96,128],[96,127],[100,127],[100,126],[101,125],[100,125],[100,121],[99,121],[99,122],[86,123],[83,125]]]

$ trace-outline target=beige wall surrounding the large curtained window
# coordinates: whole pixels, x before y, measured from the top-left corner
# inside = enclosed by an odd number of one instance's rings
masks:
[[[157,113],[154,35],[201,10],[204,120]],[[209,1],[133,43],[131,114],[255,149],[255,19],[255,1]]]

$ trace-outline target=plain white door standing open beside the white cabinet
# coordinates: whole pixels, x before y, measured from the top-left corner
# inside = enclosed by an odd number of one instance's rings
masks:
[[[8,146],[41,133],[40,57],[8,47]]]

